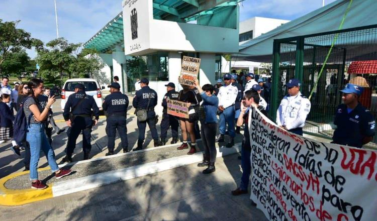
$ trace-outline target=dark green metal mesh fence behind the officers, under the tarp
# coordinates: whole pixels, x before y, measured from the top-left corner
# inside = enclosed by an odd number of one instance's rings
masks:
[[[287,94],[287,82],[298,78],[302,94],[309,97],[313,90],[305,133],[332,137],[335,108],[341,103],[339,90],[348,82],[364,86],[360,102],[377,117],[377,74],[347,73],[352,62],[372,60],[377,60],[377,25],[274,40],[271,116],[275,117],[280,100]],[[368,146],[377,148],[377,136]]]

